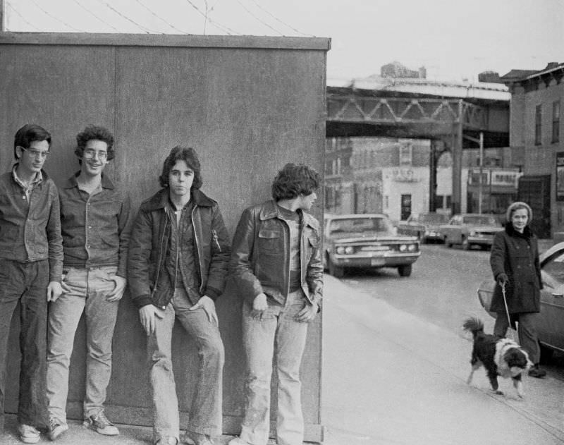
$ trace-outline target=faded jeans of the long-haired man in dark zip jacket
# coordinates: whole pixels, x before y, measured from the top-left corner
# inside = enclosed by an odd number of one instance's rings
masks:
[[[210,323],[202,308],[190,311],[192,303],[183,289],[176,288],[171,303],[156,317],[154,334],[147,337],[147,359],[153,402],[153,439],[180,435],[178,398],[172,369],[171,344],[175,317],[196,342],[199,365],[195,394],[187,429],[211,436],[221,434],[222,378],[225,353],[218,327]]]

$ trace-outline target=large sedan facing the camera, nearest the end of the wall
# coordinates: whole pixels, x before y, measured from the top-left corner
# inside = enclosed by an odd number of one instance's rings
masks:
[[[417,238],[397,235],[384,214],[325,218],[324,266],[333,276],[342,277],[345,267],[397,267],[400,276],[410,276],[419,255]]]

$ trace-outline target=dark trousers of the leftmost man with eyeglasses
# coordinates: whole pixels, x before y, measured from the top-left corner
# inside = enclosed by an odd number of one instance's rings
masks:
[[[18,422],[39,427],[49,425],[44,393],[48,284],[48,260],[23,263],[0,259],[0,432],[4,430],[8,335],[18,302],[21,353]]]

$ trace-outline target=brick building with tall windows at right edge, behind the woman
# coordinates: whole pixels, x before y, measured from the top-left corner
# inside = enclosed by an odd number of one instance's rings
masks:
[[[522,158],[518,199],[533,208],[532,226],[541,238],[564,231],[563,77],[564,63],[501,77],[511,92],[510,147]]]

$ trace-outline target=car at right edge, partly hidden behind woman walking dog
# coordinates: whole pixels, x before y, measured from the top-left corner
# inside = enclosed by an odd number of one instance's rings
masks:
[[[541,312],[535,321],[535,328],[541,343],[541,360],[551,357],[553,350],[564,351],[564,243],[553,245],[541,253]],[[486,279],[478,288],[482,307],[489,310],[496,282],[493,277]],[[495,312],[489,315],[496,317]]]

